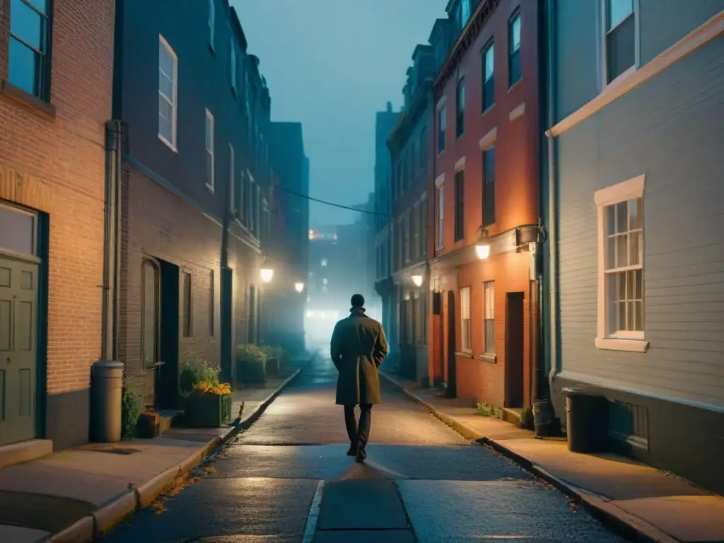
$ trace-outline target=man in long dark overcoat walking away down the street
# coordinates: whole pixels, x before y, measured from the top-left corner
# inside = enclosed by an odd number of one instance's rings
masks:
[[[379,365],[388,346],[382,324],[365,314],[363,295],[353,295],[351,304],[350,316],[334,325],[330,352],[340,372],[336,403],[345,407],[345,426],[350,438],[347,454],[362,463],[367,458],[372,405],[382,402]],[[355,421],[355,405],[360,406],[359,425]]]

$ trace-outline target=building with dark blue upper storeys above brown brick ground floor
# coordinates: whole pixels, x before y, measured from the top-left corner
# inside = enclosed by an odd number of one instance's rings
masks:
[[[118,355],[163,411],[178,407],[184,361],[230,374],[235,345],[258,340],[271,104],[227,0],[117,5]]]

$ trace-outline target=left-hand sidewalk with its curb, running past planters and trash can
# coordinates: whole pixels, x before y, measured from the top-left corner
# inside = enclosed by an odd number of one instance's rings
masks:
[[[237,426],[174,426],[155,439],[91,443],[0,469],[0,542],[91,541],[247,428],[311,358],[293,359],[264,387],[235,390],[233,417],[244,402]]]

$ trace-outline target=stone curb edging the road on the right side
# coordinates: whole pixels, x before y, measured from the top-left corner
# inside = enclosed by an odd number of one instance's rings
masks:
[[[617,508],[605,498],[599,497],[584,489],[574,487],[572,484],[563,481],[563,479],[559,479],[544,468],[532,463],[528,460],[528,458],[518,455],[518,453],[513,452],[508,449],[508,447],[500,445],[500,443],[496,442],[494,439],[490,439],[489,437],[471,429],[469,426],[456,421],[455,418],[438,411],[434,405],[431,405],[425,400],[422,400],[420,397],[414,395],[391,376],[384,374],[382,371],[379,372],[379,375],[397,388],[397,390],[402,392],[405,397],[408,397],[408,399],[418,405],[421,405],[424,409],[426,409],[426,411],[429,411],[432,415],[439,418],[440,421],[447,424],[447,426],[450,426],[450,428],[455,430],[455,432],[458,432],[458,434],[466,437],[467,439],[479,442],[481,445],[487,445],[496,452],[500,452],[500,454],[510,458],[510,460],[513,460],[513,462],[518,464],[518,466],[521,466],[521,468],[526,469],[526,471],[529,471],[537,478],[546,481],[552,487],[555,487],[557,490],[570,497],[576,505],[583,506],[594,518],[597,518],[597,520],[607,524],[610,529],[620,536],[630,539],[631,541],[641,543],[681,543],[678,539],[665,534],[665,532],[661,531],[656,526],[653,526],[641,518]]]

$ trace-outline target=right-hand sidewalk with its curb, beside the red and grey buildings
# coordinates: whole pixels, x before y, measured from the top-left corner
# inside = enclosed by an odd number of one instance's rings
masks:
[[[481,416],[434,389],[383,376],[463,436],[512,458],[624,536],[657,543],[724,541],[724,497],[628,458],[571,452],[565,439],[534,439],[534,432]]]

